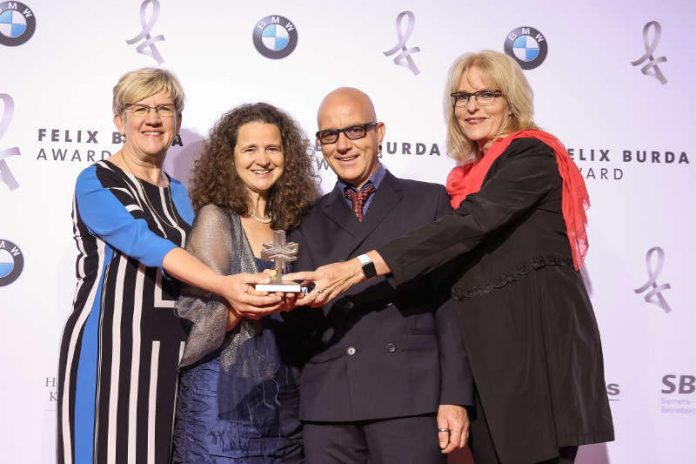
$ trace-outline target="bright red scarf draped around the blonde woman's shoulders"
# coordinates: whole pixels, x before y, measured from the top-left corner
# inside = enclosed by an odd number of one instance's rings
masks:
[[[573,255],[573,267],[579,270],[587,254],[587,216],[585,209],[590,206],[585,181],[580,170],[575,165],[563,144],[553,135],[538,129],[526,129],[515,132],[505,138],[496,140],[486,154],[478,161],[457,166],[447,176],[447,192],[450,195],[452,208],[458,208],[461,202],[472,193],[481,190],[483,179],[491,165],[503,154],[510,142],[519,138],[534,138],[551,147],[556,154],[558,172],[563,180],[561,205],[566,233]]]

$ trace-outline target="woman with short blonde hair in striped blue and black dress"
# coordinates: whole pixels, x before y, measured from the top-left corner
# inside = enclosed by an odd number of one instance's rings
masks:
[[[184,185],[162,163],[183,107],[172,73],[124,74],[112,109],[125,143],[77,178],[78,281],[58,374],[61,464],[169,463],[186,340],[174,314],[180,282],[219,295],[232,308],[280,307],[276,295],[246,293],[249,283],[266,277],[219,275],[182,248],[193,209]]]

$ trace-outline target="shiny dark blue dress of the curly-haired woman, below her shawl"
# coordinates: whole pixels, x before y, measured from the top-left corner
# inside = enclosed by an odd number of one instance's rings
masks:
[[[257,259],[263,270],[272,263]],[[302,463],[297,373],[282,359],[279,315],[260,321],[261,330],[240,346],[225,369],[220,350],[181,372],[174,431],[174,463]],[[272,365],[263,380],[243,372],[263,359]]]

